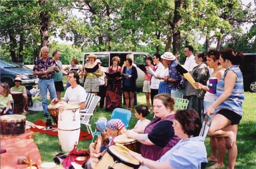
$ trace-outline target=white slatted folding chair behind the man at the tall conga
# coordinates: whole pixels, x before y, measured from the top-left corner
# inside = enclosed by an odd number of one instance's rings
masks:
[[[94,94],[88,96],[88,102],[86,102],[86,108],[80,110],[80,123],[86,125],[87,131],[89,134],[93,134],[90,119],[93,116],[93,111],[99,103],[100,97],[95,96]]]

